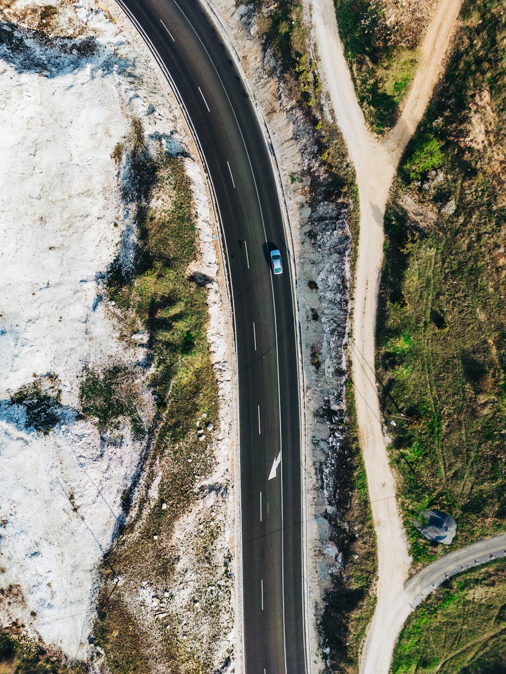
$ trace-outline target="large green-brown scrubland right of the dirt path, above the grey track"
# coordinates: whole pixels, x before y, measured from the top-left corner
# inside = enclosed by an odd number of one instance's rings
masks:
[[[457,520],[455,547],[505,527],[505,32],[499,6],[464,5],[385,216],[378,377],[417,565],[443,553],[420,510]]]

